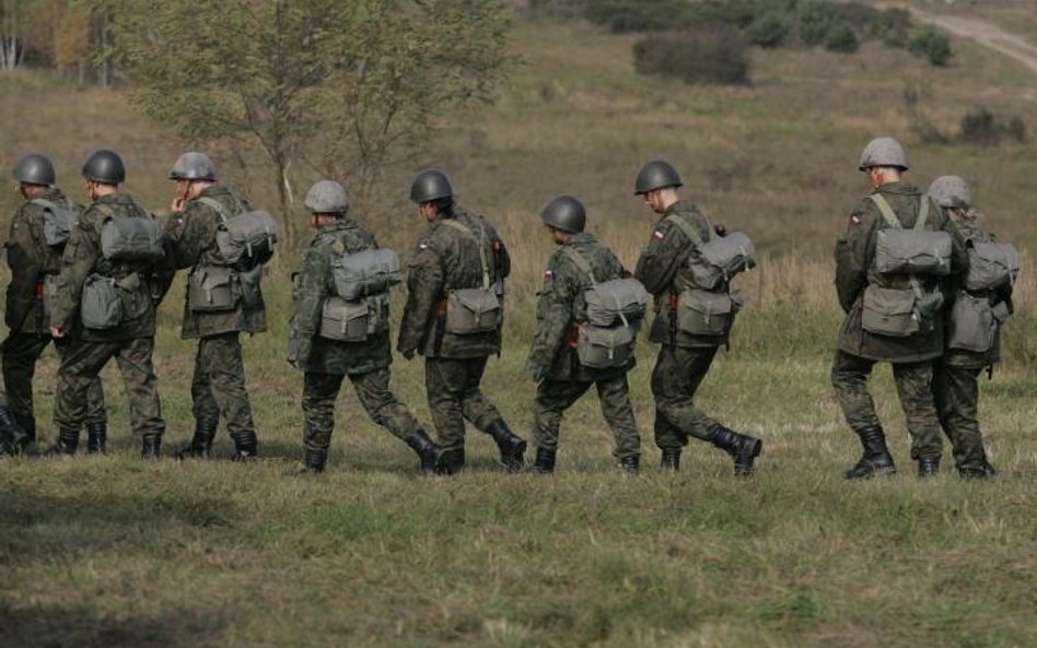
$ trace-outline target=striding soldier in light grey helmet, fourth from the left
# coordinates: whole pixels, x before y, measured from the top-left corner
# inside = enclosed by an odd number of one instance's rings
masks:
[[[289,328],[289,361],[304,372],[303,414],[305,428],[304,463],[307,470],[322,472],[327,462],[331,432],[335,429],[335,400],[342,378],[357,390],[357,397],[371,420],[388,429],[418,455],[421,470],[432,473],[442,468],[443,449],[429,438],[413,413],[389,391],[388,286],[376,295],[368,295],[381,321],[372,334],[346,341],[322,334],[323,313],[329,299],[337,297],[331,263],[342,255],[378,249],[370,232],[347,215],[346,190],[334,180],[321,180],[306,193],[311,225],[317,231],[293,275],[294,313]],[[374,301],[370,301],[375,297]],[[366,305],[364,305],[366,308]],[[366,319],[362,325],[368,328]],[[345,338],[345,335],[342,335]]]

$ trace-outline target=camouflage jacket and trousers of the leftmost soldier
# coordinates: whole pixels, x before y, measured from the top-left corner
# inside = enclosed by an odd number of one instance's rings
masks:
[[[34,202],[45,200],[58,207],[70,204],[56,187],[49,187],[28,200],[11,220],[11,232],[5,245],[11,283],[8,285],[5,320],[10,333],[3,341],[3,384],[8,404],[26,434],[26,443],[36,438],[36,419],[33,408],[33,376],[36,362],[51,342],[50,329],[44,313],[44,278],[61,269],[60,248],[47,245],[44,236],[46,208]],[[79,205],[74,205],[79,209]],[[58,355],[65,350],[63,340],[54,340]],[[86,392],[88,410],[84,419],[92,436],[104,436],[106,414],[101,379],[94,378]]]

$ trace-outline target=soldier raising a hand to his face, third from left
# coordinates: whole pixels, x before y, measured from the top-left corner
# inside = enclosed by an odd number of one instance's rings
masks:
[[[170,179],[176,180],[176,198],[166,234],[176,269],[190,268],[180,337],[198,340],[190,386],[195,434],[177,456],[208,458],[222,417],[234,440],[234,460],[245,461],[256,457],[259,441],[245,390],[240,333],[266,331],[266,309],[261,296],[255,298],[258,291],[241,290],[243,282],[258,282],[260,270],[228,263],[217,244],[217,233],[224,219],[252,208],[244,198],[217,184],[215,166],[203,153],[180,155]],[[193,286],[206,281],[212,284],[214,278],[223,275],[231,288],[225,304],[218,306],[208,298],[193,303],[193,295],[206,297]],[[246,299],[246,295],[254,298]]]

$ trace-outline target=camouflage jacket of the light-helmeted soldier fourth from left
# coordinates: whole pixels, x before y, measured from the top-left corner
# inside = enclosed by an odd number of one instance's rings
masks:
[[[335,295],[331,260],[378,247],[374,235],[349,217],[321,227],[306,249],[302,266],[292,275],[292,319],[288,330],[288,358],[314,374],[365,374],[392,362],[389,333],[362,342],[327,340],[319,335],[324,302]]]

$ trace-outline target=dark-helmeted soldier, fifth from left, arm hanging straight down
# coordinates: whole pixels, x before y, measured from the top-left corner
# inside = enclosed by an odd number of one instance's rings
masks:
[[[493,437],[509,471],[521,470],[526,443],[509,429],[479,389],[487,358],[501,350],[500,301],[511,271],[508,250],[485,219],[455,207],[454,189],[442,172],[419,173],[410,199],[429,228],[410,260],[397,350],[407,360],[415,353],[424,355],[432,422],[448,452],[446,471],[454,473],[465,466],[465,420]],[[492,308],[490,291],[496,293],[496,319],[480,310],[474,326],[455,326],[466,309],[456,297],[469,295]]]

